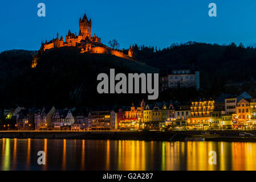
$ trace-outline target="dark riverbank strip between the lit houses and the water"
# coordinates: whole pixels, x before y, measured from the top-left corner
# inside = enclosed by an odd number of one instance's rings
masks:
[[[184,141],[186,137],[201,137],[213,142],[256,142],[255,137],[239,137],[245,131],[0,131],[0,138],[37,138],[37,139],[110,139],[146,141]],[[246,131],[256,133],[256,131]]]

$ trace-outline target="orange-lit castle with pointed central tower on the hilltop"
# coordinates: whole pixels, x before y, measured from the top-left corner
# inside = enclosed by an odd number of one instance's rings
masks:
[[[133,47],[130,46],[128,55],[123,53],[123,50],[113,49],[111,47],[105,46],[101,43],[101,39],[97,37],[95,34],[91,36],[91,19],[88,20],[86,14],[84,14],[83,19],[79,19],[79,33],[78,35],[71,33],[68,31],[66,35],[66,42],[63,40],[63,36],[60,36],[57,33],[56,39],[52,39],[50,42],[43,43],[39,50],[40,53],[43,53],[47,49],[52,48],[60,48],[60,47],[77,47],[80,48],[80,53],[88,52],[88,53],[107,53],[111,55],[115,55],[117,57],[121,57],[124,59],[136,59],[136,53]],[[36,59],[32,63],[32,68],[36,67]]]

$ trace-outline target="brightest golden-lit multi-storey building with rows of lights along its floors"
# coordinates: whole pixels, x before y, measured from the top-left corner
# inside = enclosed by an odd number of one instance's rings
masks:
[[[188,129],[209,130],[210,113],[214,110],[214,101],[192,102]]]

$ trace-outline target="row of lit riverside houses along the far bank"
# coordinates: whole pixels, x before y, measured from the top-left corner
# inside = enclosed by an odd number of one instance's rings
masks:
[[[256,129],[256,98],[243,92],[189,103],[143,100],[137,105],[96,109],[17,107],[14,114],[18,130],[250,130]]]

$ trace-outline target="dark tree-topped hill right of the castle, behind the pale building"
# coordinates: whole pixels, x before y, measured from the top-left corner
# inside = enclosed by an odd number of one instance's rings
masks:
[[[251,85],[256,79],[256,49],[245,48],[242,44],[220,46],[188,42],[172,44],[162,50],[157,47],[135,47],[137,58],[152,67],[164,69],[166,65],[194,64],[200,71],[203,89],[222,90],[226,84],[243,85],[246,82]]]

